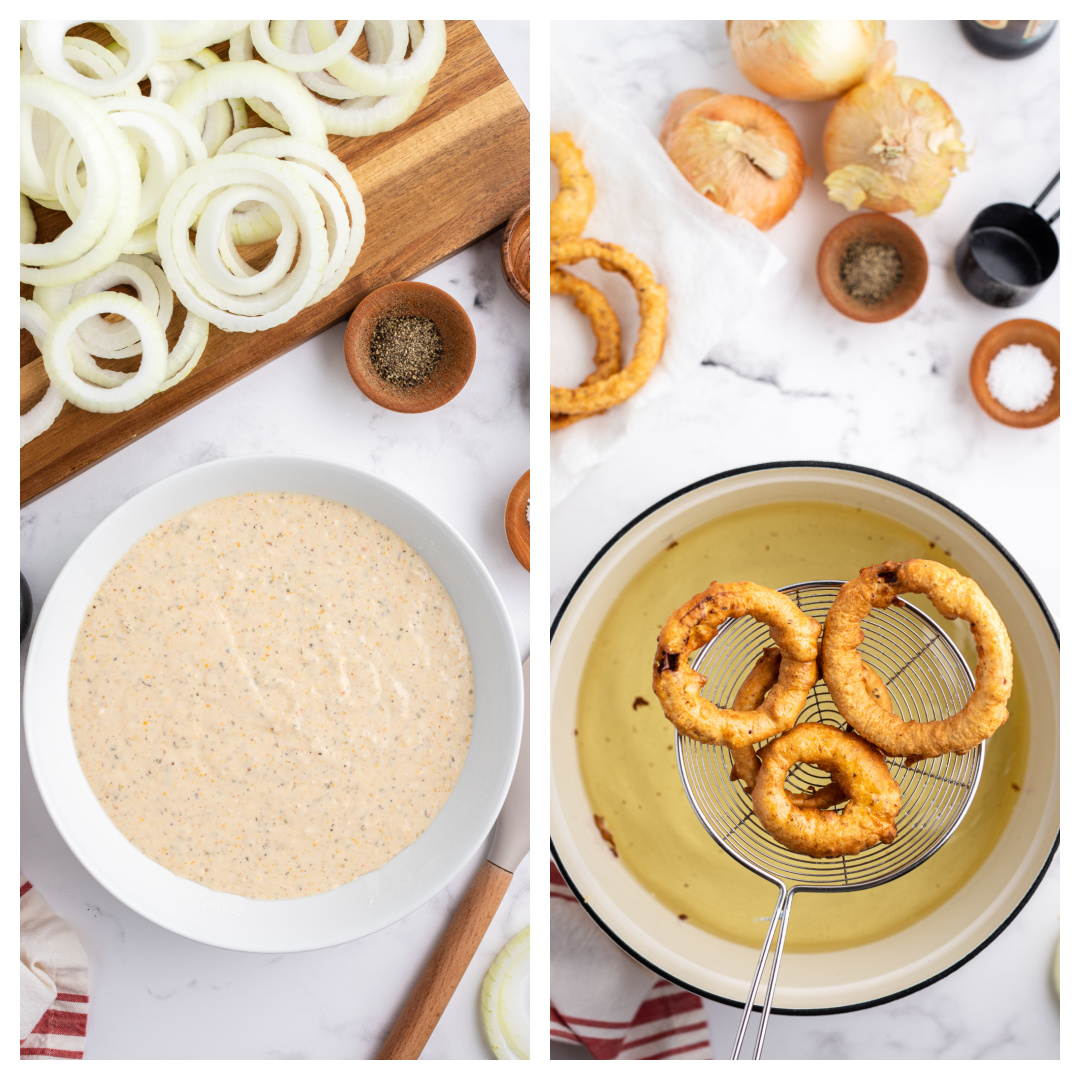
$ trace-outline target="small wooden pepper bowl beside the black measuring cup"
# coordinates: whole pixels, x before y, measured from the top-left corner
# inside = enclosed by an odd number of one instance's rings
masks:
[[[904,275],[900,284],[876,303],[856,300],[840,281],[840,262],[849,245],[863,241],[889,244],[900,253]],[[883,323],[902,315],[922,295],[927,284],[927,249],[903,221],[891,214],[853,214],[834,228],[818,252],[818,284],[825,299],[849,319]]]

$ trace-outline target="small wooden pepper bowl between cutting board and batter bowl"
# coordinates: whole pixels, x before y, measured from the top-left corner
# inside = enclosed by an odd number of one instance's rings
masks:
[[[423,315],[438,327],[443,355],[418,387],[395,387],[372,365],[372,335],[380,319]],[[445,405],[469,381],[476,359],[476,335],[464,308],[448,293],[418,281],[400,281],[368,293],[349,316],[345,361],[352,381],[376,405],[394,413],[428,413]]]

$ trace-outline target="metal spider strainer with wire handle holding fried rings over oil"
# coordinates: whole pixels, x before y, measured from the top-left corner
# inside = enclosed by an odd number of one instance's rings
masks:
[[[842,584],[842,581],[806,581],[780,592],[824,625]],[[951,639],[914,605],[900,600],[885,609],[875,608],[863,621],[863,632],[865,640],[860,654],[885,680],[893,711],[905,719],[918,723],[943,719],[958,712],[968,700],[975,685],[968,664]],[[724,623],[692,663],[706,677],[702,693],[714,702],[730,703],[761,649],[771,644],[769,627],[752,618]],[[810,691],[799,716],[800,724],[805,720],[843,726],[821,680]],[[890,758],[889,768],[900,784],[902,800],[896,839],[858,855],[837,859],[811,859],[778,843],[755,816],[743,785],[729,779],[732,762],[726,747],[679,735],[676,757],[687,797],[713,839],[747,869],[780,889],[731,1053],[732,1059],[739,1057],[775,940],[754,1047],[754,1057],[760,1057],[796,893],[869,889],[901,877],[929,859],[953,835],[971,805],[983,771],[983,746],[980,744],[968,754],[947,754],[910,766],[903,758]],[[796,791],[820,787],[828,781],[826,772],[804,764],[787,775],[788,788]]]

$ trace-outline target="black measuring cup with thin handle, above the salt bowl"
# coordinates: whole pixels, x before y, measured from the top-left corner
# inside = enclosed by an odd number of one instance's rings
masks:
[[[1062,174],[1030,206],[995,203],[980,212],[956,249],[956,272],[972,296],[996,308],[1026,303],[1057,269],[1057,235],[1049,218],[1036,213]]]

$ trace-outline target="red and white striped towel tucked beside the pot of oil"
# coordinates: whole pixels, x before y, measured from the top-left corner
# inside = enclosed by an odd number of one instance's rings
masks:
[[[710,1058],[701,998],[622,951],[551,864],[551,1037],[600,1059]]]

